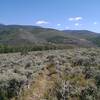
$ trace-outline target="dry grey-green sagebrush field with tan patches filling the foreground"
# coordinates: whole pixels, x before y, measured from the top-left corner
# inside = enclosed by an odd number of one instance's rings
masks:
[[[100,100],[100,48],[1,54],[0,100]]]

